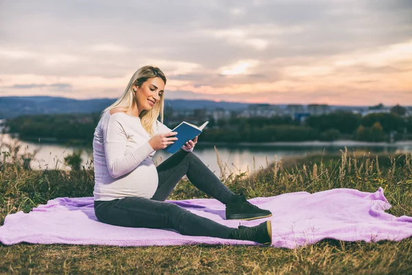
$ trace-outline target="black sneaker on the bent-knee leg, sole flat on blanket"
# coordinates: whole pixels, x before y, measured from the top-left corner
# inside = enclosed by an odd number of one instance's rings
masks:
[[[271,211],[254,206],[247,201],[243,193],[234,195],[233,199],[226,204],[226,219],[242,219],[250,221],[252,219],[261,219],[271,216]]]

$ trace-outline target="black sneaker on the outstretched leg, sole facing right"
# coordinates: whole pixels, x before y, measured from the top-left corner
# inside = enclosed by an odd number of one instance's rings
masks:
[[[271,221],[264,221],[250,228],[239,225],[238,229],[231,232],[229,239],[255,241],[264,245],[270,245],[272,243],[272,223]]]

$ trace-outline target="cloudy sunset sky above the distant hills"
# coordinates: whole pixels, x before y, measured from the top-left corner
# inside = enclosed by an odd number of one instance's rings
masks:
[[[0,96],[412,105],[412,1],[0,0]]]

